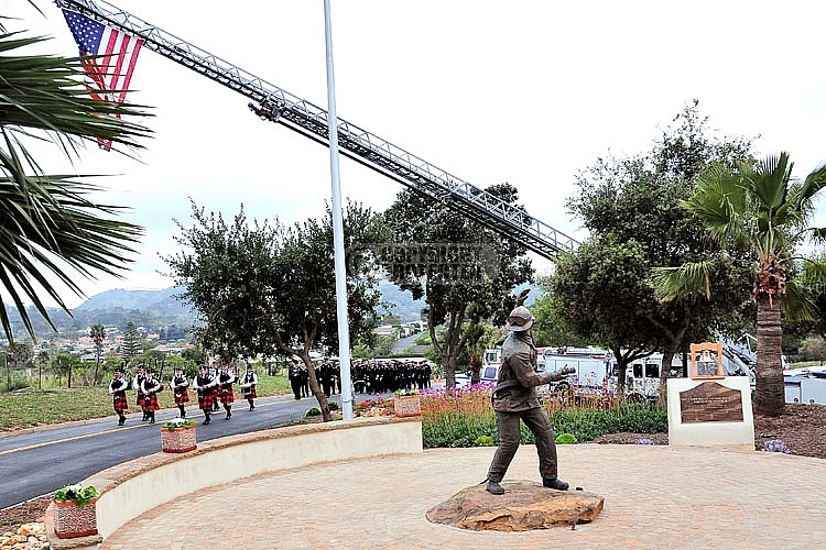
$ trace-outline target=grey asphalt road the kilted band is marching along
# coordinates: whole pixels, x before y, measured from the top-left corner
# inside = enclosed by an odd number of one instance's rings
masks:
[[[354,396],[354,405],[367,397],[372,396]],[[329,399],[341,403],[338,395]],[[187,407],[186,414],[198,421],[198,441],[208,441],[290,422],[317,406],[315,397],[260,398],[256,399],[256,410],[249,410],[247,402],[236,402],[231,419],[225,420],[221,408],[213,415],[209,426],[202,425],[204,417],[197,402]],[[104,419],[0,435],[0,509],[53,493],[115,464],[160,452],[160,424],[177,418],[177,409],[159,410],[155,424],[149,425],[141,422],[142,415],[134,408],[130,404],[131,414],[123,427],[117,426],[112,413]]]

